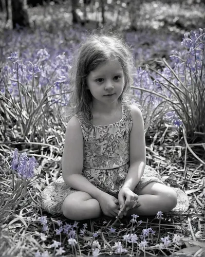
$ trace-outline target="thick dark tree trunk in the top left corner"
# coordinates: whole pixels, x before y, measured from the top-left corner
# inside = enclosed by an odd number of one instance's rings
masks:
[[[17,26],[30,27],[27,1],[11,0],[11,7],[13,28],[16,28]]]

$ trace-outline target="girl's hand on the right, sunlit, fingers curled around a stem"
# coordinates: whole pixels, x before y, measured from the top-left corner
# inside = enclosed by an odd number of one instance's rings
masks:
[[[123,215],[127,215],[127,211],[135,208],[136,206],[140,206],[138,203],[138,195],[135,194],[131,189],[129,188],[123,188],[120,190],[118,194],[118,200],[120,203],[120,211],[118,213],[118,216],[120,218],[123,217]]]

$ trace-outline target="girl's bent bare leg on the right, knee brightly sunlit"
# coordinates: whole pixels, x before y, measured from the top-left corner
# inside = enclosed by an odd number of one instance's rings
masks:
[[[158,211],[169,212],[177,205],[177,193],[158,182],[148,183],[139,193],[140,207],[127,211],[127,215],[155,215]]]

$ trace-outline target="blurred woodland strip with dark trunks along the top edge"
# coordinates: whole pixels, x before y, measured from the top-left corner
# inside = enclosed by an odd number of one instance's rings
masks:
[[[1,27],[35,27],[54,22],[91,28],[168,29],[182,33],[204,25],[205,0],[0,0]],[[39,17],[42,14],[43,17]],[[11,24],[12,21],[12,24]],[[50,25],[52,26],[52,25]]]

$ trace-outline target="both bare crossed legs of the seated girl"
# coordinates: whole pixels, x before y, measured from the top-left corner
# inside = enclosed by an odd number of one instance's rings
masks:
[[[155,215],[158,211],[169,212],[177,205],[176,192],[161,183],[148,183],[138,195],[140,207],[128,210],[124,215]],[[65,217],[76,221],[102,215],[98,200],[83,191],[68,195],[63,202],[62,210]]]

